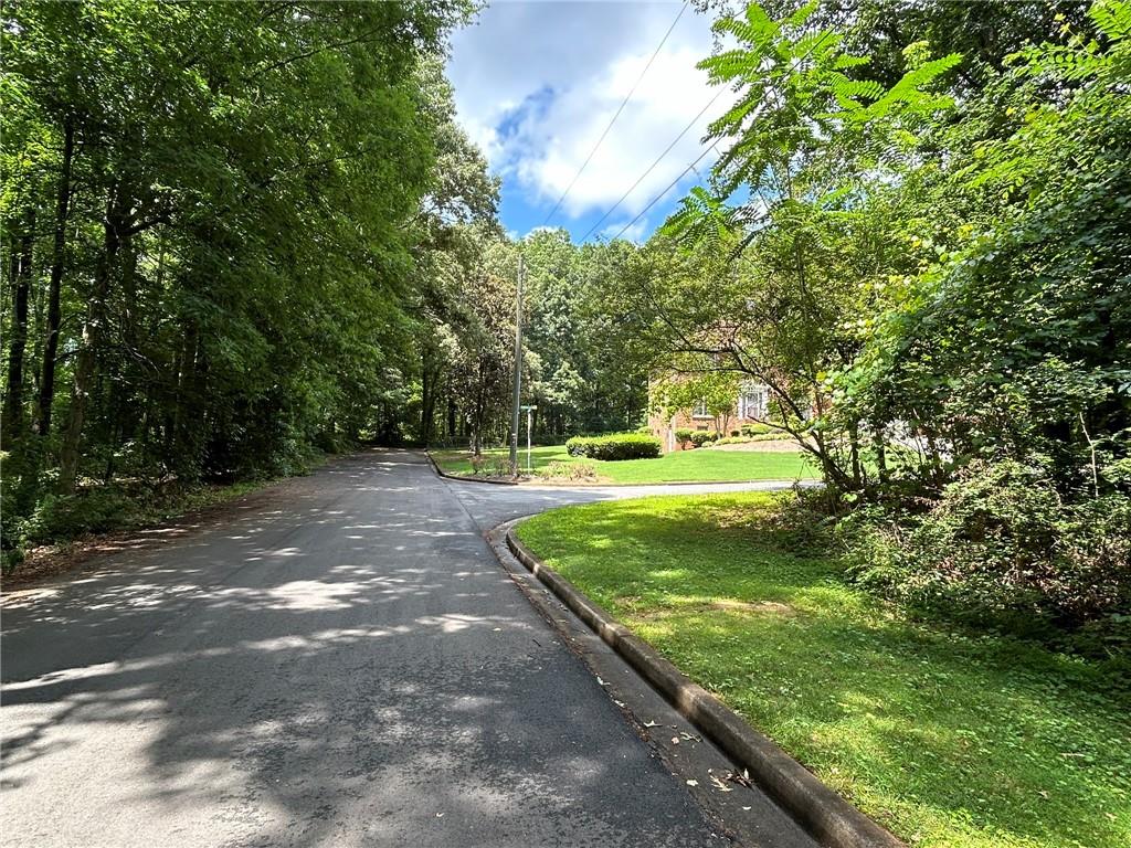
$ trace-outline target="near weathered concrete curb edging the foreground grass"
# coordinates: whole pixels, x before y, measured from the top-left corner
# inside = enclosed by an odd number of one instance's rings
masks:
[[[696,725],[814,839],[829,848],[906,848],[901,841],[822,784],[811,771],[748,725],[737,713],[647,642],[616,622],[577,587],[538,560],[507,530],[507,547],[532,574],[620,654],[675,709]]]

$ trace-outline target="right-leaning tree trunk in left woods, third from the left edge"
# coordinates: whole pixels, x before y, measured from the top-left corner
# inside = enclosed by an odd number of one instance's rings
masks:
[[[104,242],[102,256],[94,274],[94,291],[90,293],[90,305],[87,310],[86,323],[83,326],[83,341],[75,365],[75,384],[71,389],[70,414],[67,419],[67,431],[59,451],[59,490],[69,493],[75,491],[78,479],[79,445],[83,441],[83,424],[86,421],[86,401],[94,382],[94,367],[97,347],[102,337],[102,327],[106,321],[106,296],[110,293],[110,279],[114,272],[118,259],[120,225],[118,190],[112,191],[112,199],[106,213],[104,225]]]

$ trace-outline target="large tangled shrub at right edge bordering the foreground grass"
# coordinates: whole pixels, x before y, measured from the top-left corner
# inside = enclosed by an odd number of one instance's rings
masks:
[[[841,520],[848,573],[910,607],[1028,635],[1131,638],[1131,497],[1063,503],[1036,467],[976,462],[918,514]]]

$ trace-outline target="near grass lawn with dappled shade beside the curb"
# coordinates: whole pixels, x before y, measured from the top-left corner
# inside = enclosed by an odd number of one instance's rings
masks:
[[[1131,845],[1112,668],[916,623],[846,586],[772,495],[569,507],[539,556],[913,846]]]

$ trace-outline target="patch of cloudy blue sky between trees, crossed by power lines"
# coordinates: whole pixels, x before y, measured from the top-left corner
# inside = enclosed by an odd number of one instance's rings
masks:
[[[495,0],[452,36],[449,77],[460,123],[502,178],[503,225],[538,227],[569,185],[680,11],[681,2]],[[716,95],[696,62],[710,20],[689,7],[550,226],[575,241],[612,207]],[[589,239],[610,237],[703,150],[720,97]],[[709,154],[698,166],[710,166]],[[687,190],[680,181],[624,237],[647,239]]]

